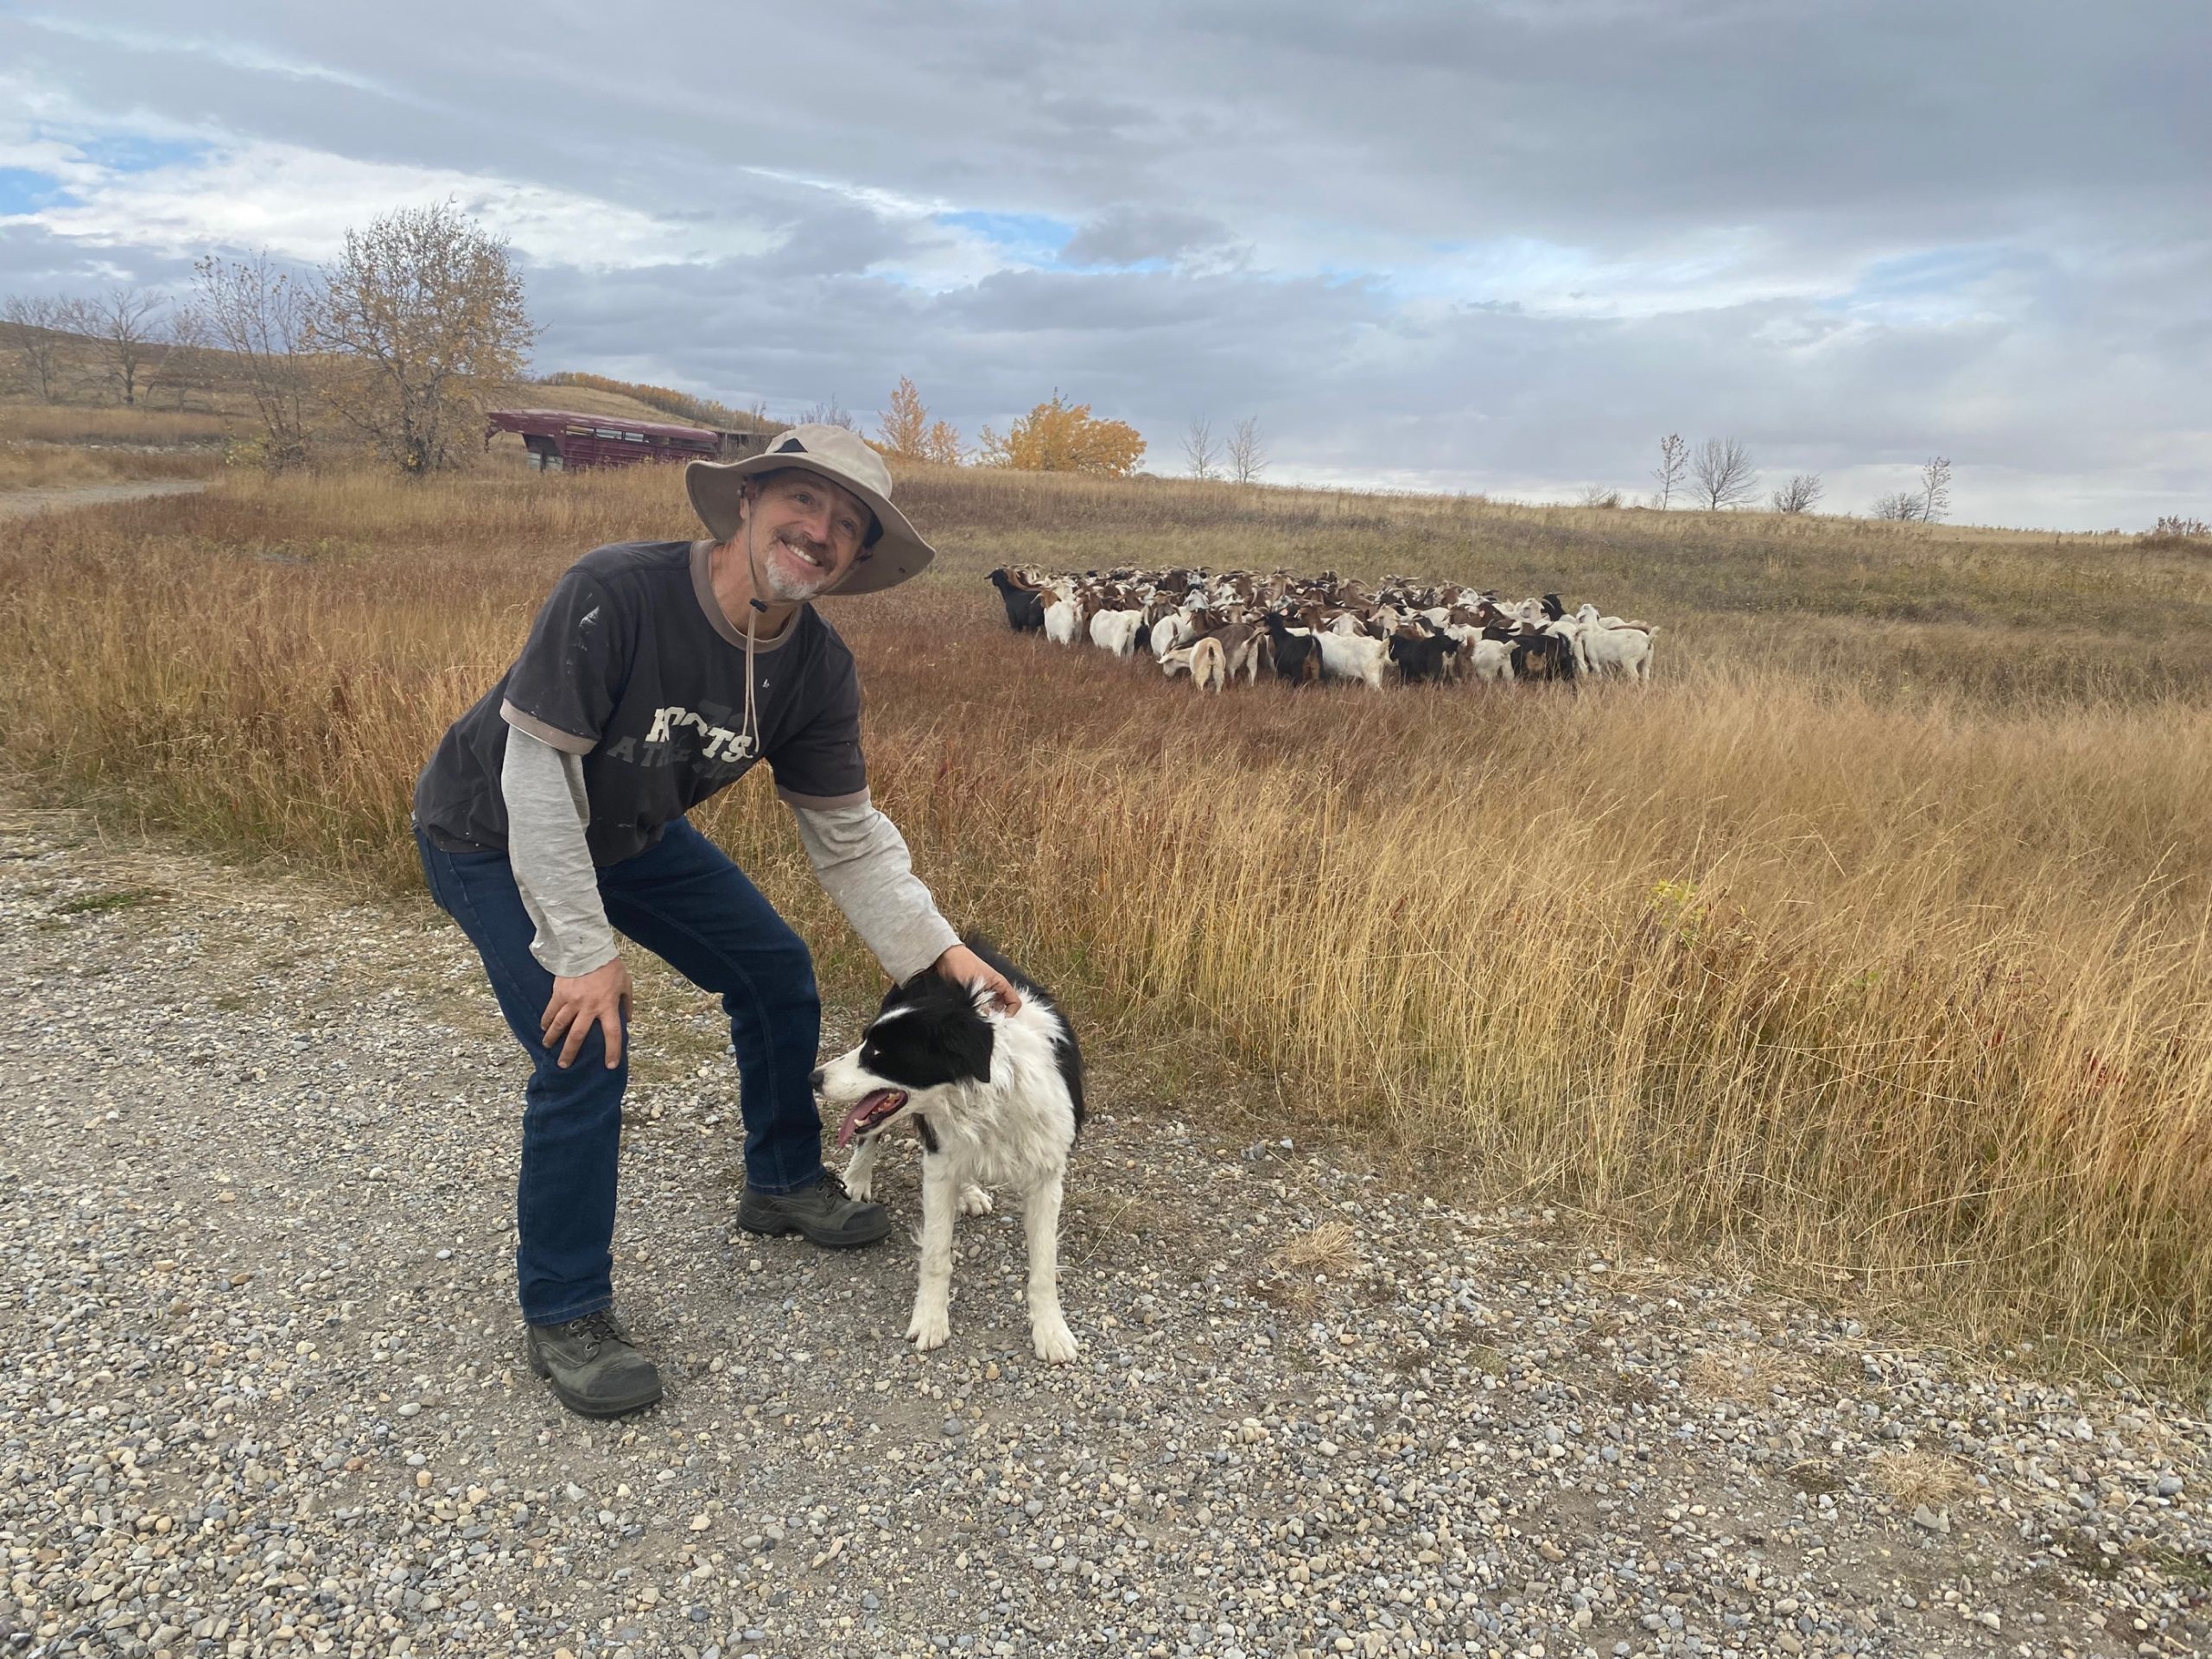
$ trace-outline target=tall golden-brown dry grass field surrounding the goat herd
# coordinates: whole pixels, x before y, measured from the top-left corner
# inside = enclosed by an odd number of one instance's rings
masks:
[[[1489,1192],[1871,1276],[1969,1329],[2199,1352],[2201,564],[973,473],[902,495],[940,568],[832,611],[876,794],[945,907],[1108,1051],[1219,1055],[1290,1117],[1462,1148]],[[688,533],[666,473],[226,478],[38,520],[0,551],[0,741],[35,787],[409,883],[414,772],[553,575]],[[1009,637],[1002,557],[1557,588],[1659,622],[1659,684],[1199,701]],[[765,781],[708,827],[832,989],[869,991]]]

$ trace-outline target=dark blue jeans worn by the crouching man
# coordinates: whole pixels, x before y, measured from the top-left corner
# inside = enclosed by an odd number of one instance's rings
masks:
[[[557,1325],[613,1305],[615,1155],[630,1077],[593,1026],[562,1068],[540,1042],[553,975],[531,956],[538,929],[504,852],[442,852],[416,830],[429,894],[484,958],[509,1031],[531,1057],[522,1091],[515,1276],[522,1318]],[[814,958],[745,874],[684,818],[635,858],[599,872],[606,920],[701,991],[719,991],[737,1048],[745,1183],[792,1192],[821,1177],[814,1071],[821,993]]]

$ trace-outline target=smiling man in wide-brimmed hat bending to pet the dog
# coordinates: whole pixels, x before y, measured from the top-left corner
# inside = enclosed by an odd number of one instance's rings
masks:
[[[933,555],[843,427],[690,462],[701,542],[624,542],[555,584],[513,668],[416,783],[422,872],[484,958],[531,1055],[515,1274],[531,1369],[584,1416],[661,1398],[613,1314],[615,1155],[630,973],[615,931],[721,993],[745,1119],[739,1225],[827,1248],[889,1232],[823,1168],[807,1075],[807,947],[686,812],[761,759],[827,894],[894,980],[938,971],[1020,998],[960,945],[869,803],[860,681],[812,599],[880,593]]]

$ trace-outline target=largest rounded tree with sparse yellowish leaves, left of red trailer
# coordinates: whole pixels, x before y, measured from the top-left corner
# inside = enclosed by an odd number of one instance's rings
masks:
[[[522,372],[535,334],[507,243],[451,201],[347,230],[307,319],[307,343],[334,356],[330,405],[409,473],[453,465],[456,431]]]

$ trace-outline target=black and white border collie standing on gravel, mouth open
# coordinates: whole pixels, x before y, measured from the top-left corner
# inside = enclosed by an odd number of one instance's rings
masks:
[[[984,1214],[987,1186],[1022,1190],[1029,1232],[1029,1334],[1040,1360],[1075,1358],[1060,1314],[1060,1192],[1084,1121],[1084,1057],[1051,995],[980,940],[975,956],[1022,993],[1006,1015],[978,987],[918,973],[883,998],[860,1046],[814,1073],[838,1110],[836,1141],[858,1141],[845,1170],[856,1199],[874,1192],[883,1133],[914,1119],[922,1137],[922,1283],[907,1336],[942,1347],[953,1281],[953,1210]]]

